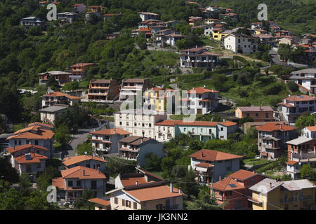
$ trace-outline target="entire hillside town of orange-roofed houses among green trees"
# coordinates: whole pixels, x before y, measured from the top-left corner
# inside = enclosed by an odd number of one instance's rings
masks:
[[[0,3],[0,210],[315,210],[315,27],[113,2]]]

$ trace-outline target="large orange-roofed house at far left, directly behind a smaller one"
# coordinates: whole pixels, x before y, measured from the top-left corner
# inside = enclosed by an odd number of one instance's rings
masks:
[[[14,149],[12,152],[19,149],[20,152],[29,153],[29,148],[35,147],[35,153],[51,158],[53,155],[54,135],[53,131],[41,125],[31,125],[14,132],[6,140],[8,141],[9,148]],[[47,154],[42,153],[41,148],[43,150],[44,148],[47,149]]]

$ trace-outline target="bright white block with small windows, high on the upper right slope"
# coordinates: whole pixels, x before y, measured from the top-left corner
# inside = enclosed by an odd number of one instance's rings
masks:
[[[246,34],[228,34],[224,36],[224,46],[235,53],[253,53],[258,50],[258,38]]]

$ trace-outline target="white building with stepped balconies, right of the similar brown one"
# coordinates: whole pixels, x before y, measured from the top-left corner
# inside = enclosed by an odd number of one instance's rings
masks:
[[[121,92],[119,92],[119,100],[127,100],[130,96],[135,99],[138,91],[142,93],[152,87],[148,78],[126,78],[121,81]]]

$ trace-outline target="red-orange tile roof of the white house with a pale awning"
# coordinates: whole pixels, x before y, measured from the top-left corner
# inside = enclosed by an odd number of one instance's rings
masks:
[[[230,153],[223,153],[220,151],[214,151],[209,149],[201,149],[196,153],[190,155],[190,157],[195,158],[197,160],[206,160],[206,161],[220,161],[220,160],[233,160],[233,159],[241,159],[244,158],[241,155],[234,155]]]

